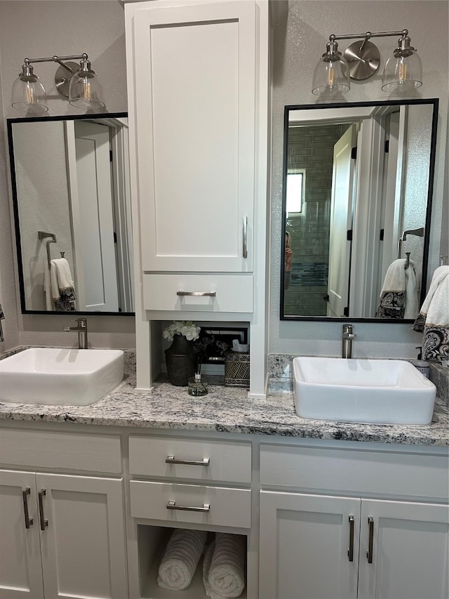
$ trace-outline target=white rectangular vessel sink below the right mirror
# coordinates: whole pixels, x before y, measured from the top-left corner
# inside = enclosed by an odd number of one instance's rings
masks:
[[[302,418],[429,424],[436,387],[405,360],[293,358],[295,409]]]

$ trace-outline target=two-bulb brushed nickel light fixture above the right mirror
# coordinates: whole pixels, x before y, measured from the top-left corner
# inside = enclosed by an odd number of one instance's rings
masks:
[[[349,91],[349,79],[363,81],[373,77],[380,67],[380,52],[370,41],[372,37],[400,35],[398,47],[387,60],[382,76],[382,90],[389,93],[410,93],[422,86],[422,65],[419,55],[410,46],[408,29],[402,31],[366,32],[330,35],[326,52],[315,67],[312,93],[316,96],[335,96]],[[337,39],[358,39],[343,53]]]

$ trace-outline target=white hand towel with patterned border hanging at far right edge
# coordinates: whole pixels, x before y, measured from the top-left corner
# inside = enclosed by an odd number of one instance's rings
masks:
[[[422,359],[449,359],[449,266],[439,266],[413,329],[422,333]]]

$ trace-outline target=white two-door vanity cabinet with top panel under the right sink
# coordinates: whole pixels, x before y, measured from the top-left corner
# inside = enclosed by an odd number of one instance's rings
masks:
[[[448,596],[447,456],[261,445],[260,484],[260,599]]]

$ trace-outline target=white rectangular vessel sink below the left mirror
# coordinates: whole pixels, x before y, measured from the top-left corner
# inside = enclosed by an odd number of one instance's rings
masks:
[[[123,379],[122,350],[30,348],[0,360],[0,402],[88,405]]]

